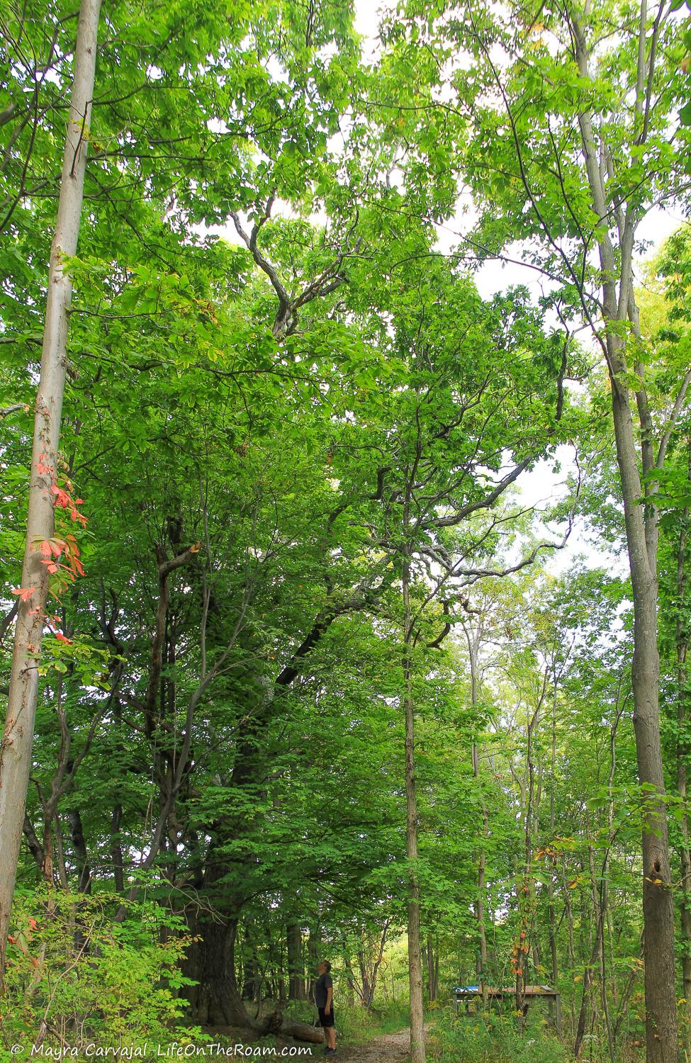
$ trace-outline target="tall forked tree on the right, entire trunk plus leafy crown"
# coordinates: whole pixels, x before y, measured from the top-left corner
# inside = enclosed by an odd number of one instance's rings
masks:
[[[656,494],[690,374],[674,367],[656,417],[634,254],[647,212],[680,196],[688,183],[689,131],[675,129],[685,84],[673,7],[660,2],[648,11],[643,0],[620,26],[611,0],[535,10],[510,3],[496,12],[452,2],[428,31],[410,5],[415,36],[431,32],[435,47],[474,58],[450,71],[443,105],[465,129],[460,166],[481,205],[472,246],[505,258],[509,244],[524,241],[524,261],[549,279],[545,305],[564,320],[585,321],[607,368],[601,411],[608,403],[633,585],[638,774],[644,792],[657,795],[646,799],[642,830],[648,1063],[671,1063],[677,1054]]]

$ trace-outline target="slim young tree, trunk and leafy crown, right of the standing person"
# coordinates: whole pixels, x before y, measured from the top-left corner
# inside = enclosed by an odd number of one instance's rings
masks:
[[[392,336],[381,342],[391,362],[405,366],[408,383],[384,401],[387,450],[384,443],[381,450],[391,461],[377,469],[383,511],[372,545],[395,559],[401,574],[410,1059],[424,1063],[416,685],[425,654],[455,620],[453,600],[462,596],[461,588],[481,574],[502,575],[483,567],[502,524],[493,511],[554,445],[567,352],[544,335],[521,294],[483,303],[446,264],[416,264],[399,272],[397,285]],[[517,393],[530,395],[529,419],[513,402]],[[477,514],[489,516],[473,528],[469,521]],[[517,568],[530,563],[539,549]]]

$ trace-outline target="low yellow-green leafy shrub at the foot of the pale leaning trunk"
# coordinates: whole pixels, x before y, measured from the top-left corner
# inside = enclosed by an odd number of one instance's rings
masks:
[[[152,901],[128,904],[118,922],[122,902],[112,894],[17,895],[0,1044],[81,1051],[171,1039],[184,1006],[178,991],[189,984],[180,972],[185,926]]]

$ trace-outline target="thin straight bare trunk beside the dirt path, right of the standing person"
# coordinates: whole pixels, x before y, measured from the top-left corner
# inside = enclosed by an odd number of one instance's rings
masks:
[[[406,850],[408,870],[408,979],[410,985],[410,1063],[425,1063],[424,1003],[420,954],[420,883],[418,880],[418,797],[415,767],[415,698],[412,693],[410,558],[403,563],[403,611],[405,659],[403,662],[405,710]]]

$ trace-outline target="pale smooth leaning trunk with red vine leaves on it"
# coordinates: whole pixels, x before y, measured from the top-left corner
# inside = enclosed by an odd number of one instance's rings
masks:
[[[72,285],[63,261],[77,252],[100,6],[100,0],[82,0],[57,219],[50,251],[44,345],[31,457],[27,542],[21,575],[26,601],[20,600],[17,613],[7,716],[0,747],[0,984],[4,975],[5,943],[31,770],[38,697],[36,655],[40,651],[48,597],[48,569],[41,563],[43,555],[36,544],[49,539],[54,526],[51,488],[55,484],[57,470],[67,365],[68,315],[72,294]],[[34,590],[30,594],[31,588]]]

